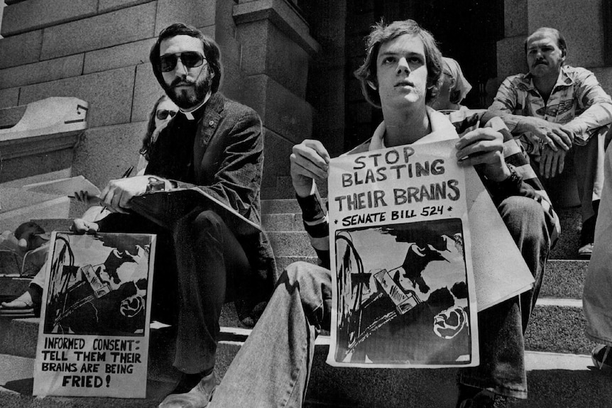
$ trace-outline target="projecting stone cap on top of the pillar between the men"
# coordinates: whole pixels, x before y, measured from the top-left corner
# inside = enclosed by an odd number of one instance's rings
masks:
[[[272,21],[280,31],[304,48],[307,53],[315,55],[319,52],[319,44],[310,36],[307,23],[287,1],[256,0],[234,6],[236,25],[259,20]]]

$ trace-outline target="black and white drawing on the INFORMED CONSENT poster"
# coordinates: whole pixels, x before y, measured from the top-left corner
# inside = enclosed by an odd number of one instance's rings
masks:
[[[143,336],[151,236],[58,233],[45,334]]]

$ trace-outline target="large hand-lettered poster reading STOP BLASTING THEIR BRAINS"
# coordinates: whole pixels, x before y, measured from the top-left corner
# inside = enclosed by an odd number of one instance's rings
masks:
[[[454,143],[329,163],[330,365],[478,365],[466,183]]]

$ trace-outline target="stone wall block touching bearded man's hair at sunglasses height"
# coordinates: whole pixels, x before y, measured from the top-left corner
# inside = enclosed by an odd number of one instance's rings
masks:
[[[155,38],[148,38],[85,53],[83,73],[89,74],[145,64],[149,61],[149,52],[153,44],[155,44]]]

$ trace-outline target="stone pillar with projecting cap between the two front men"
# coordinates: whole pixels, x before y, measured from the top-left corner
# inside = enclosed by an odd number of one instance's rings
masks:
[[[306,84],[319,45],[288,1],[240,0],[233,16],[241,43],[241,101],[261,116],[266,135],[262,195],[278,197],[277,178],[289,174],[291,146],[312,134]]]

